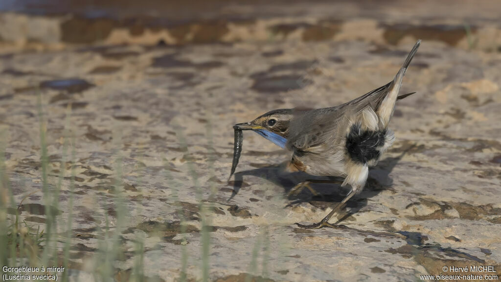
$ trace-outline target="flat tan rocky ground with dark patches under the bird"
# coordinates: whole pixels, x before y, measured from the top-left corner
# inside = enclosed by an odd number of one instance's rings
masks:
[[[196,28],[201,24],[177,34],[167,27],[148,37],[155,45],[144,38],[130,44],[130,33],[117,41],[110,32],[98,45],[4,35],[0,128],[16,201],[41,187],[40,94],[49,182],[57,183],[63,167],[75,169],[77,269],[86,269],[106,218],[116,224],[118,175],[130,215],[124,250],[131,253],[120,267],[131,267],[132,241],[144,234],[146,276],[178,277],[186,248],[188,278],[200,278],[201,200],[213,205],[213,280],[243,281],[242,273],[264,271],[276,281],[415,281],[419,274],[447,274],[442,267],[449,265],[494,265],[501,275],[501,45],[495,36],[501,27],[480,18],[466,36],[455,19],[404,25],[399,17],[389,24],[387,18],[324,21],[312,13],[227,22],[217,36]],[[396,142],[338,215],[345,227],[294,225],[320,220],[348,191],[318,184],[323,196],[305,190],[286,198],[311,177],[285,170],[290,154],[253,132],[244,132],[237,173],[227,181],[234,123],[364,94],[393,78],[417,38],[423,43],[402,89],[417,93],[398,101],[390,123]],[[75,165],[63,153],[68,122]],[[69,183],[67,173],[55,210],[62,222]],[[42,193],[34,193],[21,215],[44,226],[43,207]],[[186,246],[181,218],[189,220]],[[256,272],[249,270],[255,246]]]

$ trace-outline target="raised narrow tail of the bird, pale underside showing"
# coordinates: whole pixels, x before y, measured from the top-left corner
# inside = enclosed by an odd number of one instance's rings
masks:
[[[395,102],[398,97],[398,91],[400,90],[400,86],[402,85],[402,78],[405,75],[405,71],[409,67],[410,62],[412,61],[412,58],[417,52],[417,49],[419,48],[419,44],[421,44],[421,40],[418,40],[412,50],[410,51],[409,55],[407,55],[407,58],[405,59],[404,64],[398,71],[397,75],[395,75],[395,78],[393,78],[393,81],[390,83],[388,87],[388,94],[386,94],[386,97],[383,99],[381,102],[380,106],[378,107],[377,110],[377,115],[379,117],[379,121],[383,127],[387,127],[388,123],[390,122],[390,118],[393,115],[393,109],[395,107]],[[402,95],[406,97],[407,95]]]

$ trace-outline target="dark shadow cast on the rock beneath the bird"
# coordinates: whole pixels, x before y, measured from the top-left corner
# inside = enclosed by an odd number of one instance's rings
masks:
[[[390,174],[395,166],[400,162],[403,156],[412,148],[408,148],[397,157],[388,157],[379,161],[378,165],[369,170],[369,177],[362,192],[355,196],[352,200],[348,201],[346,206],[350,211],[338,222],[341,222],[349,216],[357,213],[360,209],[367,205],[368,199],[378,195],[383,190],[393,190],[393,179]],[[284,188],[287,194],[298,183],[305,180],[337,180],[342,181],[343,178],[339,177],[317,177],[311,176],[304,172],[287,172],[284,165],[266,166],[253,170],[237,172],[234,174],[233,193],[228,199],[230,201],[238,194],[242,188],[244,176],[256,176],[275,183]],[[333,203],[341,202],[348,194],[350,187],[341,187],[340,184],[335,183],[312,183],[311,187],[315,189],[320,195],[314,196],[308,189],[303,189],[296,197],[291,197],[291,202],[287,207],[295,206],[303,202],[309,202],[311,205],[328,209],[333,206]]]

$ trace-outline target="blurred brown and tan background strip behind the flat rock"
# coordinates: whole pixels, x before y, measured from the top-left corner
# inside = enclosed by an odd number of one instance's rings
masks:
[[[305,41],[352,37],[396,45],[404,36],[414,36],[465,48],[467,26],[475,35],[470,44],[492,51],[500,43],[498,8],[494,0],[4,0],[0,37],[3,45],[55,47],[231,43],[270,37]],[[350,24],[358,28],[347,34]]]

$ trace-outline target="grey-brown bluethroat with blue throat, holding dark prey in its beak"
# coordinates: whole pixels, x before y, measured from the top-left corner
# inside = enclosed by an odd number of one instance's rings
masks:
[[[365,186],[369,167],[377,165],[381,155],[395,140],[388,128],[395,102],[413,93],[398,95],[402,78],[417,52],[421,40],[414,45],[403,66],[392,81],[350,102],[313,110],[276,109],[253,121],[233,126],[235,144],[231,175],[234,173],[242,150],[242,130],[253,130],[276,145],[292,152],[291,163],[298,170],[314,176],[341,176],[341,186],[351,191],[319,223],[299,227],[314,229],[336,227],[329,219]],[[307,180],[291,192],[299,194],[304,187],[315,182]],[[299,191],[299,192],[298,192]]]

